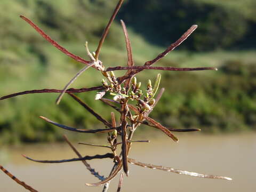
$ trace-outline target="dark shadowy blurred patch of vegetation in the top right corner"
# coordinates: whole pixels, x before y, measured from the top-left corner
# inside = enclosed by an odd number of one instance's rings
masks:
[[[255,47],[254,0],[130,0],[121,18],[148,41],[167,46],[191,25],[199,29],[183,49]]]

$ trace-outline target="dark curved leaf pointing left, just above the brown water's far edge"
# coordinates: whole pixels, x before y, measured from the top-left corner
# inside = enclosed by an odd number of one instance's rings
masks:
[[[83,129],[75,129],[73,127],[69,127],[66,125],[62,125],[56,122],[51,121],[50,119],[43,117],[43,116],[39,116],[40,118],[44,119],[46,122],[51,123],[55,126],[58,126],[62,129],[68,130],[68,131],[75,131],[75,132],[79,132],[79,133],[108,133],[108,132],[112,132],[114,130],[116,130],[115,128],[112,129],[97,129],[97,130],[83,130]]]

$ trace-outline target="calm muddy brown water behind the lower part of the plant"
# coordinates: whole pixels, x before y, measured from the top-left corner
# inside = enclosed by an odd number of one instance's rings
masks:
[[[150,143],[134,143],[129,157],[140,162],[169,166],[205,174],[224,175],[233,181],[201,179],[136,165],[129,166],[130,175],[124,178],[122,191],[256,191],[256,134],[200,135],[179,134],[180,142],[165,136]],[[83,155],[104,154],[107,148],[78,146]],[[87,187],[85,183],[98,182],[81,162],[40,164],[29,162],[20,154],[37,159],[64,159],[76,155],[66,145],[28,146],[2,149],[0,164],[17,178],[38,191],[102,191],[102,187]],[[5,160],[4,160],[5,159]],[[5,162],[5,163],[3,163]],[[110,160],[90,161],[95,169],[107,175]],[[118,176],[119,178],[119,176]],[[118,178],[109,191],[116,191]],[[0,191],[27,191],[0,172]]]

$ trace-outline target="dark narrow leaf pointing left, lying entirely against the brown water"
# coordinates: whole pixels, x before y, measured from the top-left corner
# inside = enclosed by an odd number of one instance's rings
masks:
[[[107,153],[104,155],[94,155],[89,156],[86,155],[82,158],[72,158],[72,159],[62,159],[62,160],[36,160],[30,157],[27,157],[26,155],[22,155],[23,157],[29,159],[30,161],[38,162],[38,163],[66,163],[66,162],[74,162],[74,161],[83,161],[83,160],[92,160],[92,159],[102,159],[102,158],[114,158],[114,155],[111,153]]]

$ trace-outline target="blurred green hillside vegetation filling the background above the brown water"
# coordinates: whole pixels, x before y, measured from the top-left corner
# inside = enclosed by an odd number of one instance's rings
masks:
[[[20,14],[32,19],[68,50],[86,58],[83,44],[88,41],[90,49],[96,49],[116,2],[0,1],[1,96],[33,89],[62,89],[83,67],[47,43],[19,18]],[[253,0],[243,3],[235,0],[130,0],[125,3],[118,17],[127,21],[136,65],[153,59],[165,49],[163,46],[174,42],[196,23],[199,28],[180,46],[181,50],[171,52],[157,65],[219,68],[199,72],[143,71],[138,75],[142,86],[146,86],[148,78],[154,81],[156,74],[162,73],[161,87],[166,89],[151,116],[166,126],[198,127],[204,132],[256,129],[256,51],[246,50],[255,48],[255,40],[250,38],[256,22],[253,4]],[[126,65],[124,44],[122,28],[115,22],[100,55],[106,67]],[[232,47],[243,51],[234,51]],[[73,87],[98,86],[101,78],[99,73],[89,69]],[[102,116],[110,119],[112,109],[94,101],[95,92],[78,95],[95,111],[104,111]],[[56,93],[30,94],[1,101],[0,143],[61,140],[65,131],[46,124],[38,118],[40,115],[77,128],[102,127],[68,95],[55,106],[57,96]],[[77,137],[84,135],[71,137],[79,139]]]

